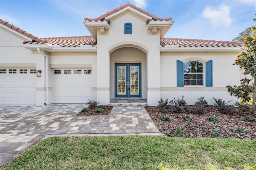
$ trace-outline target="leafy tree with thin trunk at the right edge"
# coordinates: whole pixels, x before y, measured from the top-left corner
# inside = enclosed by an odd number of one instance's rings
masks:
[[[254,21],[256,19],[254,18]],[[240,86],[226,86],[230,95],[241,98],[242,101],[250,101],[252,99],[252,114],[256,111],[256,27],[252,26],[252,35],[244,38],[244,50],[237,56],[237,60],[233,65],[238,65],[244,69],[244,75],[251,75],[252,79],[241,79]],[[252,81],[252,83],[251,83]]]

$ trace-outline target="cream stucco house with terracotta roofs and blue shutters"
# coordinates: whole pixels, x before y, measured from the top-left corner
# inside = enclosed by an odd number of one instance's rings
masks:
[[[236,100],[226,85],[239,85],[232,65],[241,42],[164,38],[174,24],[130,3],[84,18],[91,36],[38,38],[0,20],[0,104],[108,105],[114,98],[149,105],[182,95]]]

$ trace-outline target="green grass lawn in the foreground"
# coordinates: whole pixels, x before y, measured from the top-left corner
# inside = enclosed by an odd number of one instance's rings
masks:
[[[52,137],[1,169],[256,169],[256,140],[164,136]]]

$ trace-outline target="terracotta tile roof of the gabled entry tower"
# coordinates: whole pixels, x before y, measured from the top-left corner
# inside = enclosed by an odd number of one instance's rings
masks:
[[[137,10],[137,11],[139,11],[139,12],[142,12],[143,14],[145,14],[145,15],[147,15],[147,16],[150,16],[152,19],[150,19],[150,20],[147,20],[147,24],[149,23],[149,21],[152,21],[152,20],[154,20],[154,21],[170,21],[170,20],[172,20],[172,18],[159,18],[159,17],[157,17],[157,16],[155,16],[154,14],[150,14],[149,12],[147,12],[147,11],[144,11],[144,10],[142,10],[141,8],[138,8],[137,6],[135,6],[135,5],[133,5],[133,4],[130,4],[130,2],[127,2],[126,4],[124,4],[124,5],[121,5],[121,6],[119,6],[118,8],[115,8],[114,10],[112,10],[112,11],[109,11],[109,12],[107,12],[106,14],[104,14],[104,15],[102,15],[102,16],[100,16],[100,17],[98,17],[98,18],[94,18],[94,19],[92,19],[92,18],[84,18],[84,20],[85,21],[104,21],[105,20],[105,18],[107,17],[107,16],[110,16],[110,15],[112,15],[112,14],[114,14],[115,12],[118,12],[118,11],[120,11],[120,10],[122,10],[122,9],[124,9],[124,8],[126,8],[126,7],[128,7],[128,6],[130,6],[131,8],[134,8],[135,10]],[[110,24],[110,21],[109,20],[106,20],[106,21],[108,21],[108,24]]]

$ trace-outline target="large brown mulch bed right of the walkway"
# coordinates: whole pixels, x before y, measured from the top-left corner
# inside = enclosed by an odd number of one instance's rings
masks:
[[[247,116],[254,116],[250,111],[244,111],[241,108],[235,107],[236,110],[234,115],[225,115],[218,111],[216,106],[208,106],[205,110],[204,115],[198,115],[193,113],[193,106],[188,106],[189,109],[185,113],[177,113],[174,108],[171,107],[165,113],[161,113],[160,109],[155,106],[147,106],[146,111],[156,124],[156,127],[162,134],[166,136],[180,136],[180,137],[211,137],[211,138],[244,138],[244,139],[255,139],[256,138],[256,121],[246,122],[244,118]],[[182,119],[183,115],[190,115],[192,118],[190,121]],[[168,115],[171,121],[162,121],[162,115]],[[214,123],[208,121],[208,116],[220,117],[221,121]],[[185,133],[175,133],[175,127],[181,127]],[[236,127],[242,127],[245,133],[234,132]],[[221,136],[214,136],[211,130],[219,130]]]

